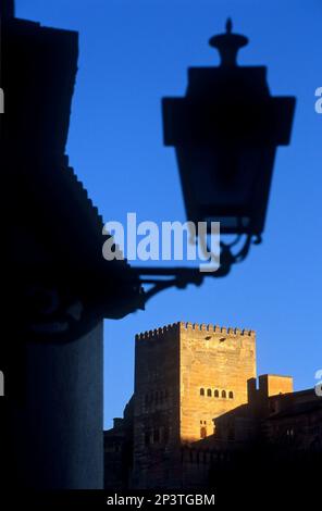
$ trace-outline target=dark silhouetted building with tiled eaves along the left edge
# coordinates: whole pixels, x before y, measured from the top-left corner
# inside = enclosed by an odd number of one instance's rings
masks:
[[[106,261],[103,220],[66,142],[78,34],[0,0],[4,114],[0,487],[103,485],[103,328],[144,307],[126,261]]]

